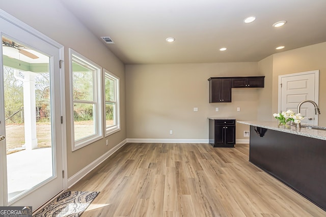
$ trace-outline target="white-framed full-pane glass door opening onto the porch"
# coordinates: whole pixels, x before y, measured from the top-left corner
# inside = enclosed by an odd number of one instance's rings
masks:
[[[0,26],[0,206],[35,210],[63,190],[59,49]]]

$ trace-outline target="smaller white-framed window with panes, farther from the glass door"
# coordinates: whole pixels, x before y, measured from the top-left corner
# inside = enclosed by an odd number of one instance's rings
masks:
[[[104,69],[105,136],[120,131],[119,78]]]

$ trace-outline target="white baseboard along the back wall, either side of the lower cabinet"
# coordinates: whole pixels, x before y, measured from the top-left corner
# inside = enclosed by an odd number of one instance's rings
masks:
[[[209,143],[208,139],[127,139],[135,143]],[[237,139],[236,143],[249,143],[249,139]]]

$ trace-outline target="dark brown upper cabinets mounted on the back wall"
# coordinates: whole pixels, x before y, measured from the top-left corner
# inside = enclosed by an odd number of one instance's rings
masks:
[[[209,81],[209,103],[230,103],[232,88],[264,87],[265,76],[211,77]]]

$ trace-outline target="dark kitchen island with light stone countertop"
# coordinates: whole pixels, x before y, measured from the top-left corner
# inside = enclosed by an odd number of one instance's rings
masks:
[[[278,128],[277,121],[250,125],[249,161],[326,210],[326,128]]]

